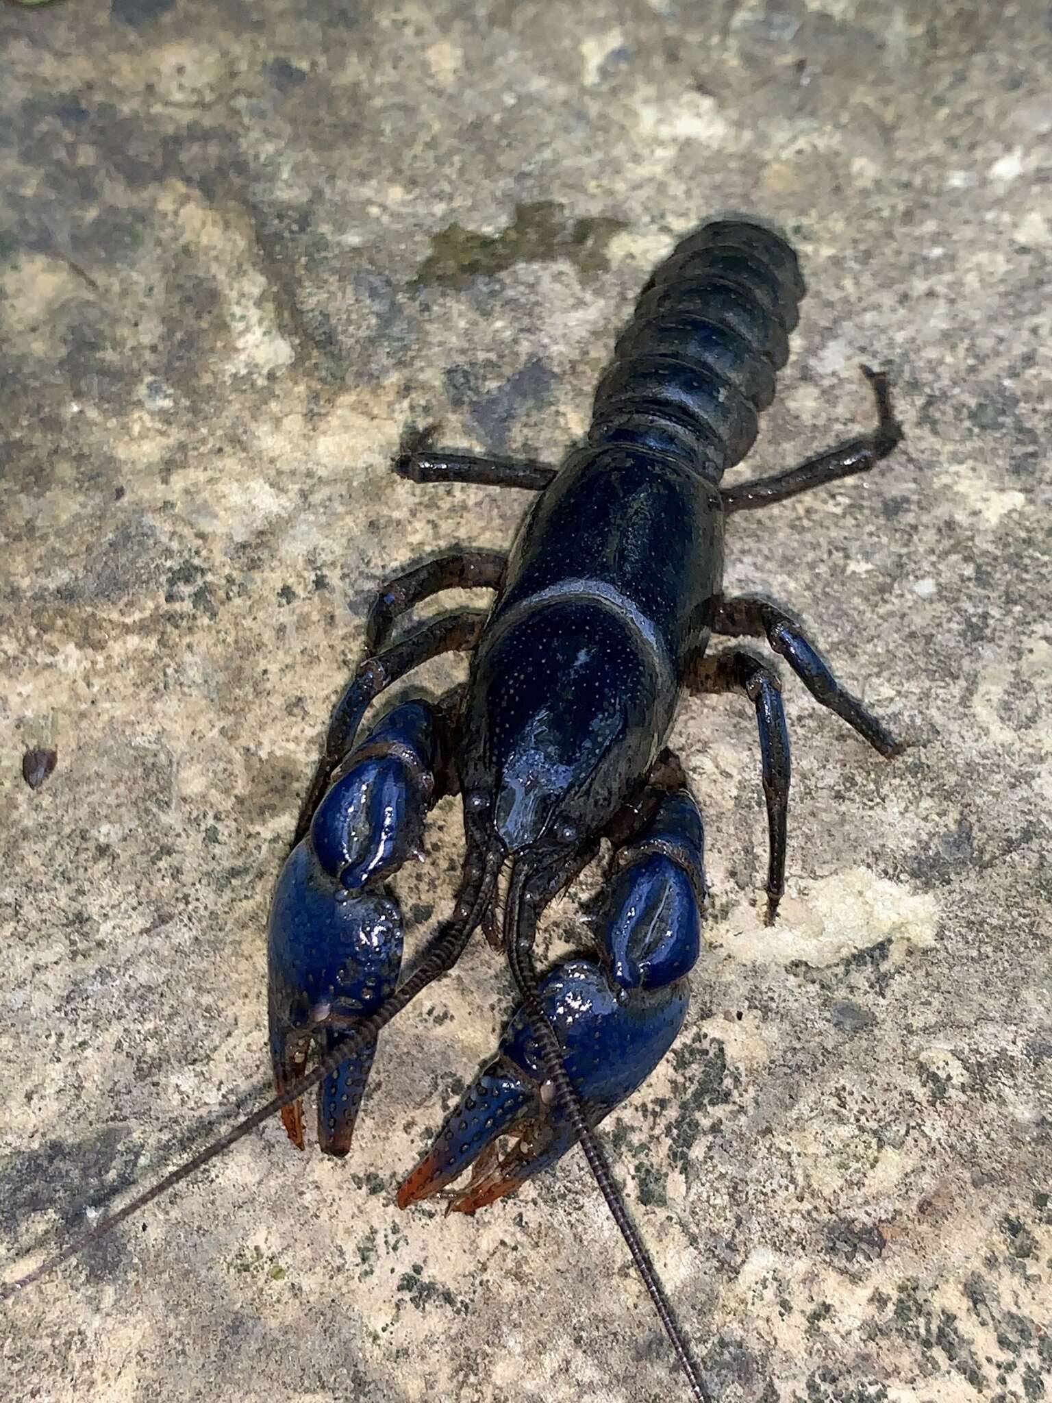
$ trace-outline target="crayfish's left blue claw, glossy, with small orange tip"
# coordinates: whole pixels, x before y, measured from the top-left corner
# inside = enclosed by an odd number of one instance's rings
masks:
[[[384,890],[419,847],[435,796],[435,713],[394,707],[348,756],[309,835],[289,854],[271,905],[269,1024],[278,1090],[346,1040],[394,991],[403,951],[397,902]],[[376,1044],[331,1072],[318,1094],[318,1145],[346,1155]],[[303,1106],[282,1111],[303,1149]]]

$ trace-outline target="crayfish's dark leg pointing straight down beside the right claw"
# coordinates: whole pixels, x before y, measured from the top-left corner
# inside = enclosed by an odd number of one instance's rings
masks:
[[[749,652],[732,648],[701,658],[687,671],[686,685],[696,693],[743,692],[756,707],[760,730],[763,797],[767,803],[767,923],[771,925],[785,890],[785,822],[788,818],[790,748],[781,685],[770,669]]]

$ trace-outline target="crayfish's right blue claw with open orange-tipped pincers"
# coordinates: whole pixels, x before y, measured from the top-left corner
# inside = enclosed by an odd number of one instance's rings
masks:
[[[693,800],[663,800],[613,884],[600,918],[605,965],[576,958],[541,982],[541,1002],[562,1044],[567,1073],[598,1124],[645,1082],[687,1012],[686,972],[700,947],[704,836]],[[512,1143],[502,1155],[499,1141]],[[473,1214],[554,1164],[576,1136],[546,1082],[522,1009],[499,1052],[461,1096],[398,1191],[408,1207],[471,1169],[450,1212]]]

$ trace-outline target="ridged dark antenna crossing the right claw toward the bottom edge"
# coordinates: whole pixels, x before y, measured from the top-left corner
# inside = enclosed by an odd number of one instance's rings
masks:
[[[603,1153],[599,1141],[595,1138],[592,1127],[588,1124],[585,1108],[576,1093],[576,1087],[567,1075],[565,1062],[562,1061],[562,1048],[560,1047],[555,1030],[551,1027],[548,1016],[544,1012],[544,1005],[540,1000],[537,971],[533,964],[536,915],[530,908],[529,901],[523,901],[525,882],[526,873],[523,868],[519,868],[518,873],[512,873],[508,901],[505,905],[505,948],[512,976],[519,988],[526,1016],[530,1020],[533,1035],[540,1047],[544,1073],[555,1089],[558,1103],[578,1136],[581,1149],[585,1152],[585,1159],[588,1160],[588,1167],[592,1170],[592,1176],[599,1186],[599,1191],[606,1200],[610,1216],[617,1223],[621,1237],[624,1237],[626,1246],[628,1247],[631,1258],[635,1263],[635,1270],[647,1288],[647,1294],[654,1302],[654,1309],[658,1312],[665,1334],[668,1336],[669,1343],[676,1352],[676,1358],[687,1376],[687,1383],[690,1385],[693,1397],[697,1399],[697,1403],[713,1403],[713,1396],[701,1382],[701,1376],[694,1367],[694,1361],[690,1358],[686,1337],[683,1336],[672,1310],[672,1305],[665,1295],[665,1288],[661,1284],[658,1270],[651,1261],[651,1256],[647,1251],[642,1237],[640,1236],[638,1228],[628,1216],[628,1209],[626,1208],[621,1193],[614,1183],[613,1172],[610,1170],[606,1155]]]

